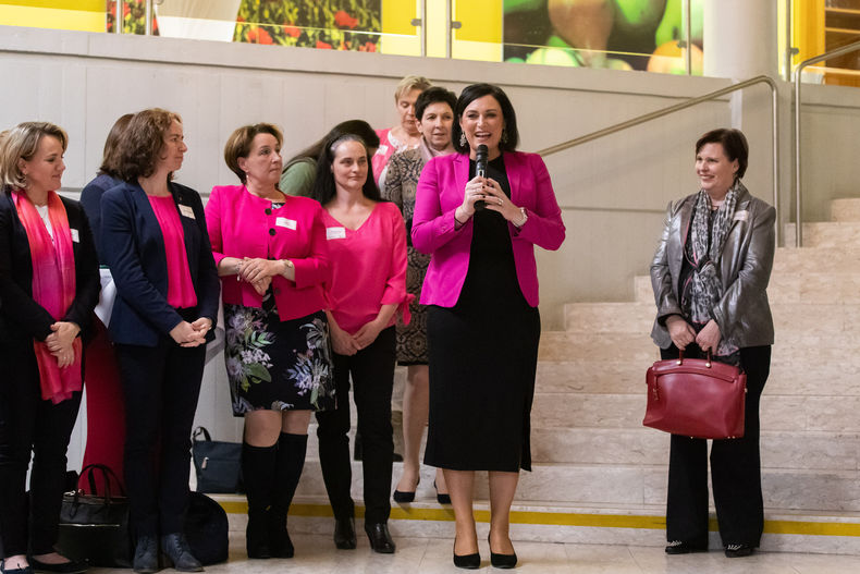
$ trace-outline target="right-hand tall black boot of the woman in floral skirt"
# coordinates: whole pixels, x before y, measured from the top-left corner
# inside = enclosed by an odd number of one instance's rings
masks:
[[[287,512],[305,467],[307,435],[281,432],[274,465],[272,505],[269,509],[269,550],[275,558],[293,558],[295,549],[286,529]]]

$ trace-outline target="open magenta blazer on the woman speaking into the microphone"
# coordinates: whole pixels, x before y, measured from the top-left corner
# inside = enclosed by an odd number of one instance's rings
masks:
[[[507,224],[514,246],[519,289],[532,307],[538,306],[538,267],[535,245],[555,251],[564,241],[562,210],[555,200],[550,173],[537,154],[504,154],[511,183],[511,200],[524,207],[528,221],[520,229]],[[472,220],[454,227],[454,211],[463,204],[469,181],[469,157],[452,154],[431,159],[421,172],[413,217],[413,245],[432,255],[421,288],[422,305],[453,307],[469,270]]]

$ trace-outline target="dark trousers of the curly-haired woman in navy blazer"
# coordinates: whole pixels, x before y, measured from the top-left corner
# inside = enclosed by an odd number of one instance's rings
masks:
[[[118,344],[125,394],[125,488],[135,536],[181,533],[188,504],[191,433],[206,361],[185,349]]]

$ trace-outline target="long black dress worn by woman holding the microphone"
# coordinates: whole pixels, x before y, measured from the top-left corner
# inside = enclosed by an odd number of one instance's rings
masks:
[[[470,162],[469,179],[475,162]],[[487,174],[505,194],[502,157]],[[531,469],[531,402],[540,315],[517,281],[508,223],[474,216],[469,269],[457,304],[430,306],[430,417],[425,463],[455,471]]]

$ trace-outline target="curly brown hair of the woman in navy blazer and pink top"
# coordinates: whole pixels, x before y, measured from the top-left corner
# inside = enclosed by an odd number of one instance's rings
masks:
[[[164,135],[174,120],[182,123],[179,113],[161,108],[150,108],[132,117],[116,144],[115,168],[120,179],[133,182],[156,172],[158,158],[164,148]]]

